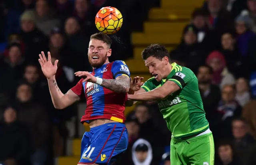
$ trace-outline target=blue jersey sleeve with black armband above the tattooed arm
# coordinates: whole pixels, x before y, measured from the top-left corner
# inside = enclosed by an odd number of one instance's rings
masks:
[[[118,76],[126,75],[130,78],[130,70],[128,66],[123,61],[115,61],[113,62],[111,72],[113,74],[114,79]]]

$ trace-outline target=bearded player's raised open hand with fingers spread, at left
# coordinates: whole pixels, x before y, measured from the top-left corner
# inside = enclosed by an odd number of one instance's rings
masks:
[[[50,52],[48,52],[48,60],[46,59],[44,52],[41,52],[41,54],[39,54],[38,61],[41,65],[42,71],[44,73],[44,76],[46,76],[46,78],[50,79],[56,74],[57,68],[58,68],[57,67],[58,60],[55,60],[53,65]]]

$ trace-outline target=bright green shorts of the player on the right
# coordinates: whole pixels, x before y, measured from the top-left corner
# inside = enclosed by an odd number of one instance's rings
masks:
[[[171,140],[171,165],[214,165],[212,133],[190,139]]]

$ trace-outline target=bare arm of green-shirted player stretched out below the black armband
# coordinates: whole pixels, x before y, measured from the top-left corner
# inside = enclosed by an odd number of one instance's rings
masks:
[[[166,83],[164,83],[164,85],[154,90],[135,95],[128,95],[128,99],[134,101],[153,101],[158,99],[164,99],[168,95],[178,90],[180,90],[180,87],[176,83],[172,81],[167,81]]]

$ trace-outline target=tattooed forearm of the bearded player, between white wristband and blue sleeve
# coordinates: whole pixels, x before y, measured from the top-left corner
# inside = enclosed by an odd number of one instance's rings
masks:
[[[118,93],[127,93],[130,88],[130,78],[118,76],[118,79],[102,79],[101,86]]]

